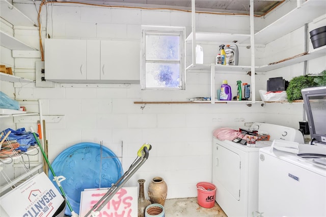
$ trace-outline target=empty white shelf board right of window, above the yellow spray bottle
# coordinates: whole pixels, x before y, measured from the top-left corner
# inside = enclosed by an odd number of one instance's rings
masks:
[[[245,40],[250,40],[250,35],[248,34],[232,34],[232,33],[206,33],[206,32],[196,32],[196,42],[220,42],[220,43],[241,43]],[[189,34],[186,41],[193,40],[193,33]]]

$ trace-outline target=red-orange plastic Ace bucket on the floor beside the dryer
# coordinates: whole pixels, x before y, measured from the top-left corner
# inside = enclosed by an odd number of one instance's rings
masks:
[[[212,208],[215,204],[216,186],[209,182],[197,183],[197,203],[204,208]]]

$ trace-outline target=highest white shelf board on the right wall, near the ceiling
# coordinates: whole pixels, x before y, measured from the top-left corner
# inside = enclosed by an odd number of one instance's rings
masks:
[[[267,44],[302,27],[326,13],[324,0],[308,0],[255,34],[256,44]],[[250,42],[250,39],[246,40]]]

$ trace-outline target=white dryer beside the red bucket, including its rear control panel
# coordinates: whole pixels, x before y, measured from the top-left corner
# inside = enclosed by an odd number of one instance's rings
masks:
[[[269,141],[247,147],[213,137],[212,183],[216,186],[216,202],[228,216],[252,216],[258,211],[259,149],[274,139],[303,143],[300,131],[267,123],[254,123],[249,129],[268,132]]]

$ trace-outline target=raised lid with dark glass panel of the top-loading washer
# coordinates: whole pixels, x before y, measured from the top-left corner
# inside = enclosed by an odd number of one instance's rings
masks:
[[[301,90],[311,139],[326,144],[326,87]]]

